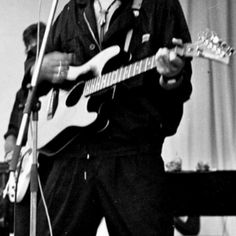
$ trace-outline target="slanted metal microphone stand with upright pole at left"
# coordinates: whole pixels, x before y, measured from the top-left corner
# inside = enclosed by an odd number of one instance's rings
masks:
[[[39,57],[36,59],[34,72],[31,80],[31,86],[29,88],[29,93],[26,100],[26,105],[23,112],[23,117],[20,124],[19,133],[16,140],[16,146],[14,148],[12,161],[10,163],[10,175],[14,175],[18,159],[21,152],[21,147],[23,143],[23,137],[28,130],[29,117],[31,112],[33,112],[33,163],[31,166],[30,173],[30,236],[36,235],[36,217],[37,217],[37,191],[38,191],[38,173],[37,173],[37,120],[38,120],[38,110],[39,103],[36,102],[37,96],[37,83],[39,72],[41,69],[45,48],[48,40],[49,31],[51,29],[53,19],[55,16],[58,0],[53,0],[50,14],[48,17],[48,22],[46,25],[42,45],[39,52]],[[17,236],[17,235],[15,235]]]

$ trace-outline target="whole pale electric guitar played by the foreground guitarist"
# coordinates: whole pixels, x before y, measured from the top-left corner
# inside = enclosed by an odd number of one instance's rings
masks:
[[[209,32],[201,34],[195,43],[176,46],[172,50],[182,57],[200,57],[224,64],[229,63],[229,57],[234,52],[233,48],[222,42],[214,33]],[[111,46],[84,65],[70,67],[68,74],[73,74],[71,76],[73,78],[78,79],[88,71],[92,71],[95,77],[78,82],[69,91],[52,89],[40,98],[38,147],[41,152],[49,156],[54,155],[76,137],[78,129],[75,127],[84,128],[95,123],[101,107],[98,112],[88,111],[92,95],[156,67],[155,55],[153,55],[102,74],[106,63],[116,57],[120,51],[119,46]],[[107,125],[108,122],[104,127]]]

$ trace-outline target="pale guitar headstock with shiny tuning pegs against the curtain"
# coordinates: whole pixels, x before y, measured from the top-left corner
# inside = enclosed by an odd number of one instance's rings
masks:
[[[184,44],[182,52],[177,53],[186,57],[202,57],[228,64],[234,48],[222,41],[215,32],[205,31],[198,36],[198,41]]]

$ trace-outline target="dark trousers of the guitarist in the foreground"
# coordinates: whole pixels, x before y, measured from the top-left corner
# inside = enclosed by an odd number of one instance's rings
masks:
[[[87,150],[54,160],[44,191],[54,236],[94,236],[103,216],[110,236],[173,235],[160,154]],[[42,202],[37,218],[37,236],[49,235]]]

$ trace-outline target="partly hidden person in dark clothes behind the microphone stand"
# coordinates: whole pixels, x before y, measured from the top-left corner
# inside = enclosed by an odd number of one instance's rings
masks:
[[[25,46],[26,60],[37,54],[37,45],[41,45],[43,35],[46,29],[46,25],[43,22],[34,23],[29,25],[23,31],[23,42]],[[21,86],[17,91],[15,102],[10,114],[10,120],[8,124],[7,132],[4,135],[5,138],[5,161],[10,162],[13,154],[13,150],[16,145],[16,139],[19,132],[21,119],[23,116],[24,105],[28,95],[27,86]],[[23,143],[26,143],[27,135],[24,137]],[[40,163],[42,165],[42,163]],[[44,167],[44,169],[46,169]],[[11,224],[10,231],[14,231],[15,236],[29,235],[30,227],[30,198],[29,190],[23,200],[15,205],[15,217],[9,219]],[[11,205],[9,206],[11,207]],[[15,222],[13,222],[15,221]],[[14,227],[13,227],[14,225]]]

